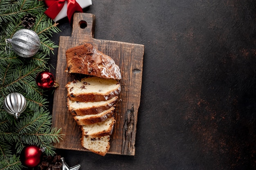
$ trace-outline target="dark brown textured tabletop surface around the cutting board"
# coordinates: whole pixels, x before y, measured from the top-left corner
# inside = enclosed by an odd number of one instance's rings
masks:
[[[66,163],[81,170],[256,169],[256,1],[92,3],[83,11],[96,16],[94,38],[145,46],[136,151],[57,150]],[[72,31],[67,18],[59,23],[56,43]],[[54,52],[49,63],[56,66]]]

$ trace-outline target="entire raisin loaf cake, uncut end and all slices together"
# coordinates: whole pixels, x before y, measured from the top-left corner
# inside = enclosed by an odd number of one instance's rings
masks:
[[[81,145],[105,156],[110,149],[110,135],[116,122],[113,114],[120,93],[120,69],[110,56],[91,44],[67,49],[66,60],[65,72],[96,77],[90,79],[91,83],[86,79],[66,85],[67,107],[82,131]],[[104,84],[107,80],[103,80],[104,85],[99,83],[100,78],[111,79],[108,87]],[[91,86],[94,82],[95,86]]]

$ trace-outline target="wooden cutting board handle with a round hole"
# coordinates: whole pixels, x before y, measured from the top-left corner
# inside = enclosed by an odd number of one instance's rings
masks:
[[[91,13],[74,13],[72,37],[94,38],[95,16]]]

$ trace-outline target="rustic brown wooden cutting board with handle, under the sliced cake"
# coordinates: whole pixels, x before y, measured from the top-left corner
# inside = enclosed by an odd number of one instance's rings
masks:
[[[59,87],[54,92],[52,127],[62,128],[63,140],[55,143],[59,149],[88,151],[80,144],[81,131],[67,110],[65,85],[78,75],[64,72],[65,51],[69,48],[91,43],[107,54],[121,69],[121,92],[116,105],[116,124],[110,139],[111,154],[135,155],[137,115],[141,95],[141,79],[144,45],[94,39],[95,16],[90,13],[75,13],[72,36],[61,36],[55,79]]]

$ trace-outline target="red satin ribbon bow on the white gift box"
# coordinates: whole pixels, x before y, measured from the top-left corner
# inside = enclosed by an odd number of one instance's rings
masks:
[[[72,21],[72,16],[74,12],[83,12],[82,7],[79,5],[79,3],[76,2],[76,0],[45,0],[46,4],[47,1],[50,5],[48,9],[45,11],[45,14],[51,19],[56,18],[58,13],[63,8],[65,1],[67,1],[67,18],[70,21],[70,23]]]

